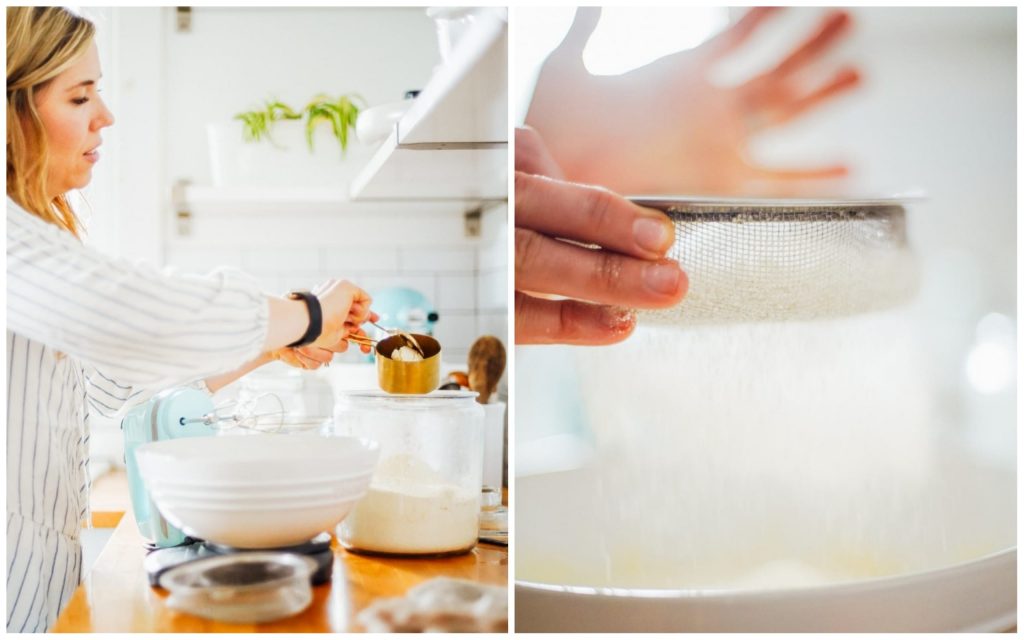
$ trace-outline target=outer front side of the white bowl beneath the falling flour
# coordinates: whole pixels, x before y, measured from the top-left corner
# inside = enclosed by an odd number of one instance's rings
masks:
[[[1017,623],[1017,551],[810,589],[669,591],[517,582],[519,632],[992,632]]]

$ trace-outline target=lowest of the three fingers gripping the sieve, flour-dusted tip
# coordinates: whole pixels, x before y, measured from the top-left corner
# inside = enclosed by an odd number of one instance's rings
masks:
[[[515,294],[517,344],[613,344],[635,327],[636,313],[628,309]]]

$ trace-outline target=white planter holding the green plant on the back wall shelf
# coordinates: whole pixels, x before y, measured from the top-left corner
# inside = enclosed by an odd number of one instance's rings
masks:
[[[274,123],[273,142],[247,142],[242,123],[210,123],[207,139],[214,186],[346,187],[366,166],[375,145],[360,143],[349,132],[348,148],[341,145],[327,123],[316,128],[313,148],[305,137],[304,121]]]

